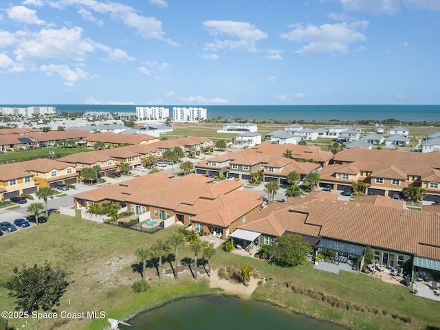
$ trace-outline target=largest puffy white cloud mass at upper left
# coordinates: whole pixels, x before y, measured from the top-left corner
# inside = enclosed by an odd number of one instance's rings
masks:
[[[30,61],[32,58],[74,58],[84,61],[87,53],[95,51],[94,42],[82,39],[83,29],[62,28],[43,29],[39,32],[17,32],[19,45],[14,53],[17,61]]]

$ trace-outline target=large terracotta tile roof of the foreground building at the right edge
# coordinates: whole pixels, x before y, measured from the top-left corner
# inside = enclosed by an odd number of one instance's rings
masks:
[[[322,226],[322,237],[440,260],[439,214],[328,199],[292,210],[309,213],[306,223]]]

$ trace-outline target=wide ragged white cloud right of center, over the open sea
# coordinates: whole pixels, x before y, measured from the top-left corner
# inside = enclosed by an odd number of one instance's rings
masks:
[[[299,54],[347,53],[349,43],[364,41],[365,36],[358,30],[363,30],[369,25],[366,21],[355,23],[323,24],[320,26],[296,24],[293,30],[281,34],[281,38],[297,43],[308,43],[296,50]]]

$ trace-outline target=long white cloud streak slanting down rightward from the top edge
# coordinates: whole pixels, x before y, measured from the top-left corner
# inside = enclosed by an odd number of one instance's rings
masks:
[[[104,3],[96,0],[58,0],[52,1],[50,4],[55,8],[64,8],[67,5],[89,8],[89,10],[107,14],[112,19],[122,21],[126,26],[135,29],[144,39],[159,39],[170,45],[177,45],[177,43],[165,38],[161,21],[155,19],[155,17],[144,17],[137,14],[136,10],[129,5],[115,2]]]

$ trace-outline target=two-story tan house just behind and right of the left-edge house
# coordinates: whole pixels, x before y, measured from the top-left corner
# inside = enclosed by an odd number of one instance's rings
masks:
[[[76,184],[78,182],[76,166],[55,159],[39,158],[3,166],[32,174],[36,186],[39,187],[54,188],[57,184]]]

